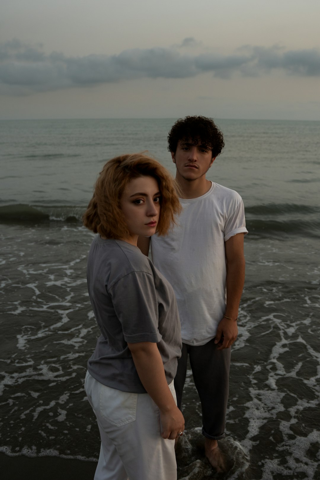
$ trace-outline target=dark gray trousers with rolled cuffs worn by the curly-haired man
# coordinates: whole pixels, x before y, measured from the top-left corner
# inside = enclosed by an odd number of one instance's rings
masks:
[[[215,440],[225,436],[231,356],[231,348],[218,350],[218,346],[214,344],[214,338],[197,347],[183,343],[175,378],[178,408],[181,410],[189,354],[194,384],[201,401],[202,433],[205,437]]]

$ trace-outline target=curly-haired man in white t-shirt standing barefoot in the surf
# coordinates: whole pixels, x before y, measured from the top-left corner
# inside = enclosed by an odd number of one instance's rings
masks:
[[[175,378],[178,407],[189,354],[201,400],[205,454],[218,471],[224,470],[217,440],[225,436],[230,347],[237,339],[248,233],[238,193],[206,179],[223,147],[223,135],[211,119],[188,116],[173,125],[168,150],[177,168],[182,212],[167,237],[151,239],[154,265],[178,302],[183,342]],[[149,241],[138,243],[145,254]]]

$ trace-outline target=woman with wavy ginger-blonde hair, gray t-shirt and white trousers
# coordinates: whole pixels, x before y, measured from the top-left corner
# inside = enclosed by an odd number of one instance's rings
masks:
[[[87,265],[101,336],[85,391],[101,436],[95,480],[175,480],[175,439],[184,431],[173,379],[181,354],[171,285],[137,247],[165,235],[180,204],[174,180],[142,154],[104,166],[83,216],[98,233]]]

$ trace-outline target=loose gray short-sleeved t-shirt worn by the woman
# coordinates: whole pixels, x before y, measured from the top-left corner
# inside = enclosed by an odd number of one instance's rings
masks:
[[[154,342],[169,384],[177,372],[181,334],[175,294],[166,278],[138,247],[96,236],[87,281],[101,331],[88,360],[90,374],[111,388],[145,393],[127,342]]]

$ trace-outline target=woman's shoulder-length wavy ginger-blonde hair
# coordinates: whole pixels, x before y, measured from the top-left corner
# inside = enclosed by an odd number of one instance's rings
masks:
[[[95,191],[83,215],[83,224],[107,239],[127,238],[127,228],[120,199],[126,186],[138,177],[153,177],[161,193],[158,235],[166,235],[181,211],[178,186],[159,162],[144,154],[121,155],[109,160],[95,182]]]

